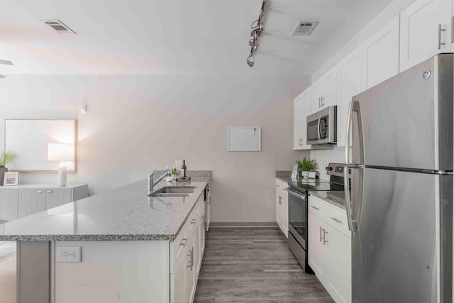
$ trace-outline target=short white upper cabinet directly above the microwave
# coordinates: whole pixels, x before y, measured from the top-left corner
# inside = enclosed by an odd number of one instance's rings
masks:
[[[312,84],[312,114],[326,106],[336,104],[338,104],[337,65]]]

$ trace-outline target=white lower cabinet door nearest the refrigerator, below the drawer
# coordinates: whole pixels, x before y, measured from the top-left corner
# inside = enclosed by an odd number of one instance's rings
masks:
[[[329,233],[330,294],[336,302],[350,303],[352,300],[351,240],[336,228],[330,228]]]

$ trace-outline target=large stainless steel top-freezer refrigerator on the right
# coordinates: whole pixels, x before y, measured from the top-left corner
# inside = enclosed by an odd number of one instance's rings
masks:
[[[453,115],[453,54],[350,102],[352,302],[452,302]]]

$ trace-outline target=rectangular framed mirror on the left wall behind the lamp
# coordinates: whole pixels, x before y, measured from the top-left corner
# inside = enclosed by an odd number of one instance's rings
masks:
[[[65,160],[67,170],[75,172],[77,167],[76,142],[77,120],[5,120],[5,150],[18,155],[16,160],[9,164],[9,170],[56,172],[60,164],[58,160]],[[55,152],[52,151],[55,150],[53,148],[55,145],[64,147],[65,155],[60,155],[60,158],[56,157]],[[52,148],[51,152],[49,148]]]

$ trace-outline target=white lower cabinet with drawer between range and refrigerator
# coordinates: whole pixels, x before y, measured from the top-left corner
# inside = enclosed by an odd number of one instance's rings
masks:
[[[351,302],[351,235],[345,219],[341,209],[309,197],[309,265],[337,303]]]

